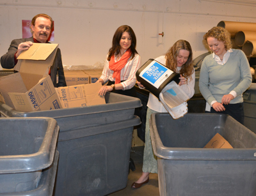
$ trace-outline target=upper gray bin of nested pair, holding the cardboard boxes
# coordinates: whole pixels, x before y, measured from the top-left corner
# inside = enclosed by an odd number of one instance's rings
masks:
[[[3,117],[53,117],[60,132],[65,132],[132,119],[134,109],[141,107],[140,99],[122,94],[106,93],[105,100],[107,104],[35,112],[19,112],[0,102],[0,113]]]

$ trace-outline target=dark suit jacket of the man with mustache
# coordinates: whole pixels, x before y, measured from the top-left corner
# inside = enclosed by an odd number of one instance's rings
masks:
[[[18,50],[19,44],[22,42],[25,42],[25,41],[34,42],[33,37],[12,40],[12,43],[8,49],[8,52],[1,57],[1,66],[3,68],[12,69],[15,66],[14,54]],[[58,84],[56,82],[57,73],[58,73],[58,77],[59,77]],[[57,50],[55,59],[51,66],[51,79],[52,79],[52,83],[53,83],[54,87],[67,86],[65,76],[64,76],[64,71],[63,71],[63,65],[62,65],[62,61],[61,61],[60,49]]]

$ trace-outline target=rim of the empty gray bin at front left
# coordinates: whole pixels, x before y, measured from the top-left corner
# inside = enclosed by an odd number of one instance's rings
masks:
[[[28,155],[0,156],[0,174],[33,172],[45,169],[52,164],[60,130],[55,119],[51,117],[12,117],[0,118],[0,121],[35,121],[36,119],[45,120],[48,124],[40,148],[36,153]],[[51,137],[51,141],[49,137]]]

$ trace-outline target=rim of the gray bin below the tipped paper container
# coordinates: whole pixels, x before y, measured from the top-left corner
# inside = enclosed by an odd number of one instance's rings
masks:
[[[159,158],[163,158],[166,160],[256,160],[256,148],[209,149],[209,148],[166,147],[163,145],[163,142],[159,137],[159,134],[157,132],[157,126],[156,126],[156,116],[163,115],[163,114],[164,113],[153,113],[150,116],[150,137],[152,140],[152,147],[153,147],[154,154]],[[195,114],[196,113],[186,114],[186,115],[195,115]],[[198,115],[205,115],[205,114],[198,113]],[[207,114],[207,115],[216,115],[216,114]],[[217,114],[217,115],[220,115],[220,114]]]

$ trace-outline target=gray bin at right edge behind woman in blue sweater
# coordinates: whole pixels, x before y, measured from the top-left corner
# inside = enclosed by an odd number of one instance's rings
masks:
[[[256,83],[244,92],[244,126],[256,133]]]

